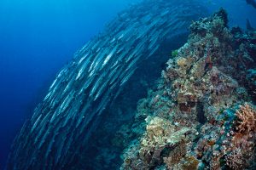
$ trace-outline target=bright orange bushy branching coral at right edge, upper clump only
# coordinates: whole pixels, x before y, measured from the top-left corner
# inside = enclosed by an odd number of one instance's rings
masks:
[[[238,126],[236,130],[240,133],[256,132],[256,111],[250,105],[241,105],[236,111]]]

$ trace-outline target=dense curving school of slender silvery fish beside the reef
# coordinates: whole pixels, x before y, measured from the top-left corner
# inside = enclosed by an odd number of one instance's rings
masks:
[[[204,8],[191,0],[146,0],[120,13],[55,78],[49,94],[16,137],[7,169],[117,166],[118,162],[102,163],[92,154],[101,152],[98,141],[108,143],[109,133],[115,133],[120,123],[134,115],[134,111],[117,111],[118,102],[125,103],[131,93],[137,94],[130,99],[133,105],[143,97],[145,93],[139,89],[134,93],[142,83],[137,77],[157,75],[161,62],[166,60],[163,56],[178,46],[176,38],[181,41],[191,20],[203,14]],[[136,81],[129,88],[131,80]],[[109,121],[108,117],[114,117],[113,127],[103,124]],[[123,147],[124,144],[113,146],[119,150]]]

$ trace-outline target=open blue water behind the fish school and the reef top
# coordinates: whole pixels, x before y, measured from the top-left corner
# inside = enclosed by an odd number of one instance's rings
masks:
[[[0,2],[0,169],[20,127],[44,99],[63,65],[109,20],[135,0]],[[230,14],[230,26],[256,27],[256,9],[243,0],[200,2]]]

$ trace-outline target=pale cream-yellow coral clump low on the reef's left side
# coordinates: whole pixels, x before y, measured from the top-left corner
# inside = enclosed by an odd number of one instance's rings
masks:
[[[160,117],[148,117],[146,134],[141,140],[141,149],[139,150],[140,158],[146,161],[149,166],[154,166],[162,161],[177,162],[185,155],[185,133],[189,128],[183,127],[180,130],[175,129],[165,119]],[[165,158],[166,157],[166,158]]]

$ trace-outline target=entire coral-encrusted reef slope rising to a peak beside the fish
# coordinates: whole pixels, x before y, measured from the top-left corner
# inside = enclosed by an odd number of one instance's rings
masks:
[[[221,9],[189,27],[137,105],[121,169],[256,169],[256,31],[227,22]]]

